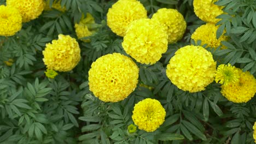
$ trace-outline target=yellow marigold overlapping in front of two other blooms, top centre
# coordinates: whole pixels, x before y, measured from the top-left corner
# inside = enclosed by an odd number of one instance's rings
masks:
[[[168,35],[158,21],[131,22],[122,43],[125,52],[139,63],[154,64],[166,52]]]

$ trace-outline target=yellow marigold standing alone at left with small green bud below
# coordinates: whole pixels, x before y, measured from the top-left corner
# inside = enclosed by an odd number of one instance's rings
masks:
[[[69,35],[59,34],[59,39],[46,44],[43,61],[48,69],[70,71],[80,61],[80,48]]]

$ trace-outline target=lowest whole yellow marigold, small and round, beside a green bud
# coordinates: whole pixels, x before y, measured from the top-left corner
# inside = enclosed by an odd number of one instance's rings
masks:
[[[138,129],[152,132],[164,123],[165,115],[165,109],[158,100],[147,98],[135,104],[132,120]]]

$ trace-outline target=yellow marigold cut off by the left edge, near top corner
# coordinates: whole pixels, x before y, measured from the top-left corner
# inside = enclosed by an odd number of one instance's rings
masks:
[[[8,37],[20,31],[22,18],[20,12],[10,6],[0,5],[0,35]]]

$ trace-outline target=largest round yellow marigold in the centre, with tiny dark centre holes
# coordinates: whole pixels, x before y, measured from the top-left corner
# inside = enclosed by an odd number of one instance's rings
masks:
[[[89,70],[89,88],[100,100],[117,102],[128,97],[138,83],[139,69],[131,58],[113,53],[98,58]]]

